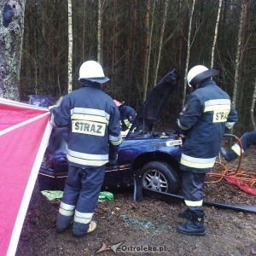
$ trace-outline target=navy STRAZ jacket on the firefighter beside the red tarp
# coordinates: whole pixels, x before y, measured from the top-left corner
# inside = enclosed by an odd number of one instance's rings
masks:
[[[72,166],[103,166],[108,162],[108,144],[118,149],[122,142],[119,109],[101,84],[84,82],[50,112],[53,126],[69,128],[67,160]]]

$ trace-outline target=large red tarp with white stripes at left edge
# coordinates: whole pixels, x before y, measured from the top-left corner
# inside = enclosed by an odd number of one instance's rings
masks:
[[[0,98],[1,255],[15,255],[50,131],[47,108]]]

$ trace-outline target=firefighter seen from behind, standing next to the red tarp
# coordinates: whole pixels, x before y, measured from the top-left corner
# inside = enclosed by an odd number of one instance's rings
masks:
[[[51,108],[50,123],[68,126],[69,164],[64,194],[56,218],[56,231],[73,224],[73,236],[84,236],[96,229],[92,220],[108,161],[118,158],[120,113],[113,99],[102,91],[108,82],[102,66],[85,61],[79,69],[82,87],[64,96]]]

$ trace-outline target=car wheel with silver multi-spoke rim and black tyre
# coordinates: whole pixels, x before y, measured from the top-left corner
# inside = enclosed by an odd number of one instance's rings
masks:
[[[143,188],[167,193],[176,193],[179,188],[177,172],[165,162],[149,162],[143,166],[142,176]]]

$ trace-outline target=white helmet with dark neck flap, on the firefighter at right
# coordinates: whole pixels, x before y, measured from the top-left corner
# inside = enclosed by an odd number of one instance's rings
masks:
[[[195,84],[201,82],[204,79],[211,78],[213,76],[218,75],[219,71],[216,69],[208,69],[205,66],[198,65],[195,67],[192,67],[189,70],[187,81],[189,84],[189,87],[193,87],[195,89]]]

